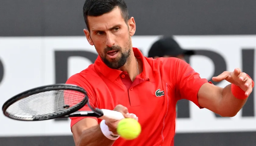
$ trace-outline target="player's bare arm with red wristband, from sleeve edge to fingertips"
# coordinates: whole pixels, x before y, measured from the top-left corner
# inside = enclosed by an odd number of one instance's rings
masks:
[[[203,84],[197,93],[199,105],[220,116],[235,116],[246,103],[254,82],[239,68],[233,72],[224,71],[221,75],[213,77],[212,80],[215,82],[227,80],[231,84],[225,88]]]

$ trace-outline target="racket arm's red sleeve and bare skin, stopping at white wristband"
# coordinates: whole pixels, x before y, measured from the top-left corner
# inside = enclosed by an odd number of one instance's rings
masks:
[[[96,97],[94,95],[91,84],[81,77],[80,74],[72,75],[66,82],[66,84],[73,84],[84,88],[87,91],[90,105],[94,107]],[[84,106],[81,111],[91,110],[87,105]],[[71,119],[71,131],[73,134],[74,142],[76,146],[111,146],[114,141],[105,137],[101,131],[100,124],[98,124],[97,118],[94,117],[72,117]]]

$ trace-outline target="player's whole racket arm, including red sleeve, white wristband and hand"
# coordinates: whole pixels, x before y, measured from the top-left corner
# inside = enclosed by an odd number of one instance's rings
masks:
[[[81,78],[79,74],[76,74],[71,76],[67,80],[66,84],[83,87],[87,91],[90,105],[92,107],[95,106],[97,99],[93,88],[87,80]],[[86,105],[79,110],[87,111],[91,109]],[[136,115],[129,114],[128,109],[122,105],[117,105],[113,110],[122,113],[125,118],[138,120]],[[117,135],[116,128],[120,120],[104,120],[98,124],[97,118],[95,117],[71,117],[70,119],[71,130],[76,146],[111,146],[114,143],[114,140],[119,137],[119,135]]]

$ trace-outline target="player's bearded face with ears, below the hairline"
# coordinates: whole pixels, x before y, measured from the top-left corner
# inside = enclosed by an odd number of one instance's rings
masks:
[[[122,67],[129,59],[131,36],[135,33],[134,19],[126,23],[121,14],[120,9],[115,8],[101,16],[88,16],[90,33],[85,31],[88,42],[94,45],[104,63],[114,69]]]

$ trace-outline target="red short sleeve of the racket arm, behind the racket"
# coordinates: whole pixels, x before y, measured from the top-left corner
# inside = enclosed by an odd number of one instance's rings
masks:
[[[92,107],[95,107],[96,97],[94,96],[94,91],[92,90],[91,85],[88,83],[88,81],[86,79],[84,79],[81,75],[75,74],[75,75],[71,76],[67,80],[66,84],[72,84],[72,85],[77,85],[77,86],[82,87],[87,92],[90,105]],[[87,105],[85,105],[84,107],[79,109],[79,111],[91,111],[91,109]],[[80,121],[84,118],[93,118],[98,121],[98,119],[96,117],[70,117],[70,119],[71,119],[70,127],[72,127],[75,123],[77,123],[78,121]]]

